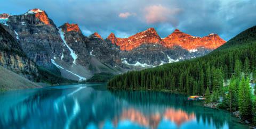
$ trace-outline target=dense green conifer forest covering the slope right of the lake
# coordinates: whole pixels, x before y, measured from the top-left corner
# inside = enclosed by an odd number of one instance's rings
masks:
[[[117,75],[107,87],[193,94],[205,96],[206,103],[218,102],[222,96],[222,108],[239,110],[243,118],[256,124],[255,96],[249,87],[255,79],[256,26],[206,56]]]

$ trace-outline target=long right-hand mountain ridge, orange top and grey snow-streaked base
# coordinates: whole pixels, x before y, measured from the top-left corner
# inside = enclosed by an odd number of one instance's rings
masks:
[[[154,28],[123,39],[111,33],[107,39],[120,46],[124,64],[141,67],[154,67],[203,56],[225,43],[217,34],[200,38],[178,29],[161,39]]]

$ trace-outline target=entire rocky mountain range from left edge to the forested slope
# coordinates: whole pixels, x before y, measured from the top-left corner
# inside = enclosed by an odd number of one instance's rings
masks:
[[[78,24],[57,27],[39,8],[0,14],[0,22],[1,66],[37,82],[49,81],[47,76],[85,81],[99,73],[141,70],[203,56],[226,42],[214,33],[201,38],[178,29],[161,38],[154,28],[128,38],[110,33],[103,39],[97,32],[86,37]]]

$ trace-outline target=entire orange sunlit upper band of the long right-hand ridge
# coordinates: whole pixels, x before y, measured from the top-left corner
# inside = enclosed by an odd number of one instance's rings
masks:
[[[203,38],[194,37],[183,33],[178,29],[161,39],[154,28],[149,28],[146,31],[139,32],[129,38],[116,38],[114,33],[111,33],[108,38],[113,44],[120,46],[121,50],[132,50],[142,44],[160,44],[169,48],[173,46],[181,46],[187,50],[197,49],[198,47],[204,47],[207,49],[216,49],[223,45],[226,41],[221,39],[217,34],[211,33]]]

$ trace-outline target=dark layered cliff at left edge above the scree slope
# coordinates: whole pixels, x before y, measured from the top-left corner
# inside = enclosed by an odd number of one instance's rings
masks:
[[[18,42],[0,24],[0,65],[25,78],[36,81],[36,64],[23,53]]]

